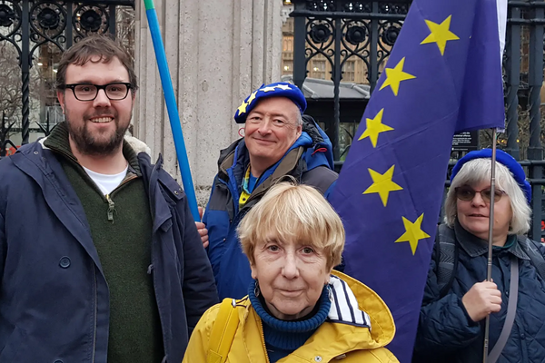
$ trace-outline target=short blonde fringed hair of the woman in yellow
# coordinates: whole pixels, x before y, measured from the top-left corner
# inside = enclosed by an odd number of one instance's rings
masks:
[[[307,185],[279,182],[250,210],[237,228],[243,252],[253,265],[253,252],[273,234],[297,240],[327,257],[327,269],[341,263],[344,227],[339,215],[319,191]]]

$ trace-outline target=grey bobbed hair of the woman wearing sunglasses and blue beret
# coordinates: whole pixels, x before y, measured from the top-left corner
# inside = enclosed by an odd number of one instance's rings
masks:
[[[474,159],[463,164],[460,172],[454,177],[445,200],[445,223],[447,225],[454,226],[457,218],[455,189],[462,185],[471,186],[481,182],[490,182],[490,166],[490,159]],[[524,234],[530,231],[531,209],[524,191],[520,189],[509,169],[500,162],[496,162],[496,187],[505,191],[510,198],[513,214],[510,220],[509,234]]]

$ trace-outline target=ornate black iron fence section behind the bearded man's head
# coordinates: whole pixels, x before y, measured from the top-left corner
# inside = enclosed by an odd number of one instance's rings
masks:
[[[87,34],[115,35],[118,6],[134,7],[134,0],[0,0],[0,158],[29,142],[31,121],[49,132],[60,117],[55,62]]]

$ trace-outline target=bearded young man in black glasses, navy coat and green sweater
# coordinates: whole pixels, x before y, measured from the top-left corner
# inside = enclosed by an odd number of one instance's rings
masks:
[[[94,36],[63,54],[66,122],[0,162],[0,362],[180,362],[217,302],[185,194],[124,141],[130,56]]]

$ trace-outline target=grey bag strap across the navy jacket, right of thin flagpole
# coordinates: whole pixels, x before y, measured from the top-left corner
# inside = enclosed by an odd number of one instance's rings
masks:
[[[503,329],[501,329],[500,338],[496,341],[494,348],[488,355],[488,363],[496,363],[500,358],[501,351],[505,348],[505,344],[510,336],[510,331],[513,329],[513,323],[515,322],[515,315],[517,314],[517,302],[519,299],[519,259],[515,256],[511,256],[511,274],[509,284],[509,301],[507,303],[507,315],[505,316],[505,322],[503,323]]]

